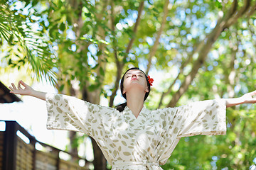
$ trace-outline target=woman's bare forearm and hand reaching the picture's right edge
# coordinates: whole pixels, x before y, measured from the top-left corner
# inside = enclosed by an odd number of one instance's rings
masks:
[[[240,98],[226,98],[226,106],[232,107],[237,106],[243,103],[256,103],[256,98],[253,98],[252,96],[256,95],[256,91],[252,91],[250,93],[244,94]]]

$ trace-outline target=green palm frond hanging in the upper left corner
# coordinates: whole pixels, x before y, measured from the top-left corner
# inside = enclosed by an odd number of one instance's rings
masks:
[[[10,46],[5,56],[6,61],[11,61],[11,67],[18,68],[28,62],[36,74],[36,79],[41,80],[44,77],[51,84],[55,84],[55,55],[50,50],[52,44],[45,34],[46,29],[31,16],[31,13],[24,15],[17,10],[11,10],[8,4],[0,4],[0,40],[5,40]],[[18,51],[11,46],[18,46]]]

